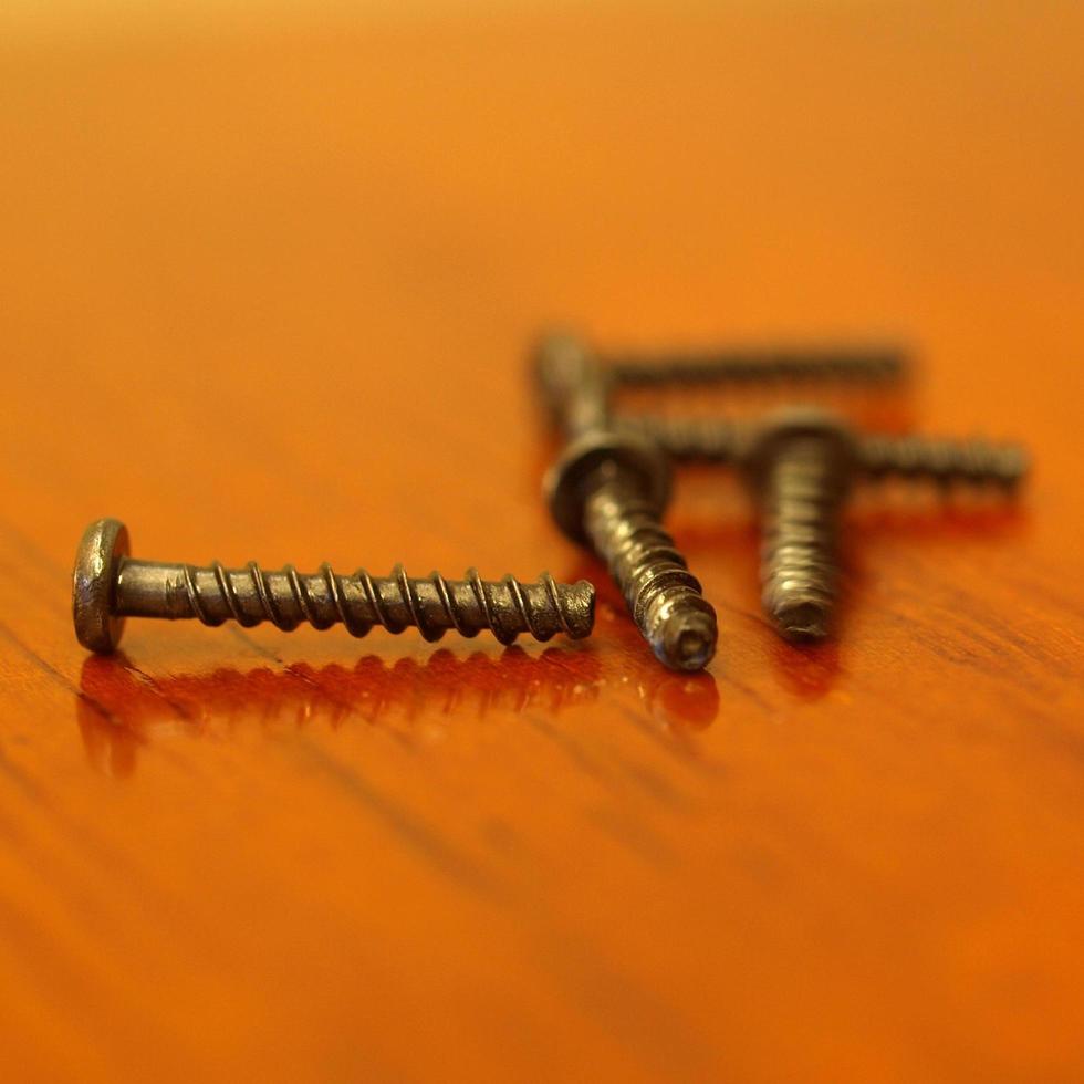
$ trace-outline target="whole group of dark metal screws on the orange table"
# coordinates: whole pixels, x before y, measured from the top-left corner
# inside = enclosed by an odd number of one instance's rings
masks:
[[[758,423],[622,416],[621,387],[810,382],[879,384],[898,379],[898,352],[771,351],[702,357],[600,357],[580,340],[546,336],[534,376],[564,447],[546,476],[545,496],[562,532],[598,557],[621,590],[640,634],[664,665],[700,670],[715,655],[716,612],[663,525],[673,465],[700,461],[739,471],[760,510],[761,587],[765,613],[793,642],[822,639],[836,596],[836,541],[844,503],[862,478],[901,477],[996,484],[1014,491],[1026,471],[1017,446],[925,440],[855,432],[841,419],[792,407]],[[447,632],[490,630],[501,644],[520,634],[538,640],[580,639],[594,624],[595,592],[586,581],[557,583],[542,573],[524,584],[507,575],[486,581],[434,572],[424,579],[402,565],[389,576],[364,569],[312,574],[293,565],[267,572],[256,562],[227,569],[138,561],[117,520],[97,520],[80,542],[73,580],[79,642],[116,649],[126,617],[195,618],[205,625],[270,622],[283,632],[301,624],[342,624],[354,636],[375,625],[417,628],[426,640]]]

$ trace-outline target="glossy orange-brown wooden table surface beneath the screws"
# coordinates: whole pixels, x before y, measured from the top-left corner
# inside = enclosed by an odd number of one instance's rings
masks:
[[[164,11],[0,46],[6,1077],[1080,1080],[1084,9]],[[809,650],[740,488],[682,475],[721,633],[685,679],[539,500],[553,320],[899,336],[909,388],[827,398],[1034,475],[862,496]],[[100,515],[586,575],[597,629],[90,658]]]

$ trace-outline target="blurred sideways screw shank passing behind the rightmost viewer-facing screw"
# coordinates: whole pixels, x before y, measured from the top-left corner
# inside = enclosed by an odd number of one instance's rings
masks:
[[[757,427],[719,418],[628,416],[618,428],[658,444],[679,462],[734,465]],[[941,484],[999,484],[1011,489],[1028,473],[1019,445],[929,437],[856,436],[856,467],[867,478],[905,478]]]

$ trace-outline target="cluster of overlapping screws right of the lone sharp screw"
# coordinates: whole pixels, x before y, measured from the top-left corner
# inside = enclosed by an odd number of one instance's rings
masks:
[[[670,462],[726,465],[743,476],[760,513],[762,607],[794,643],[816,642],[831,630],[841,519],[855,481],[899,477],[942,488],[992,484],[1012,493],[1028,470],[1026,455],[1015,445],[858,434],[834,415],[807,407],[749,424],[621,417],[612,406],[622,385],[893,382],[905,373],[897,351],[605,359],[560,333],[541,341],[533,361],[551,423],[569,441],[545,482],[554,519],[606,562],[640,633],[660,661],[676,669],[707,665],[716,618],[661,527]],[[617,484],[637,494],[636,514],[611,501],[602,530],[600,494]]]

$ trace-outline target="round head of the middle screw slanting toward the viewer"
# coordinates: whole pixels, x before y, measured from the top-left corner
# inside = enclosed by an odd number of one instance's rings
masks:
[[[564,535],[586,543],[583,511],[587,498],[608,478],[624,476],[659,512],[670,499],[670,463],[652,441],[630,434],[590,432],[573,440],[546,472],[543,492]]]

